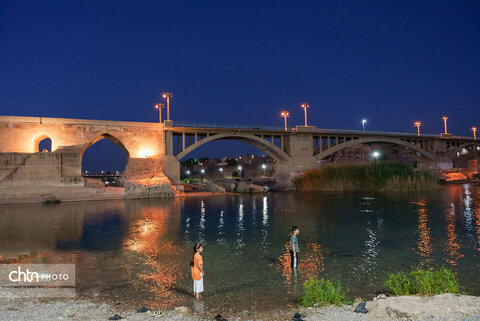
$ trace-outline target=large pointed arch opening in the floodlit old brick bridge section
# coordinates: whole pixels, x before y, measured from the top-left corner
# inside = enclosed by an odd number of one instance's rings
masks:
[[[129,153],[117,138],[103,134],[82,149],[82,176],[101,180],[106,186],[120,187]]]

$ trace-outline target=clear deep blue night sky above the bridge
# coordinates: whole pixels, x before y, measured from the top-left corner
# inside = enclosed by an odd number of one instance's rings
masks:
[[[0,114],[471,135],[479,1],[4,1]]]

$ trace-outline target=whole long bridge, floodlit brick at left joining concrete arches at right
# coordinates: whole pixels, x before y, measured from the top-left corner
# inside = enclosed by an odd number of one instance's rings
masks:
[[[39,152],[44,138],[52,141],[51,153]],[[275,176],[283,184],[289,184],[294,173],[316,168],[330,155],[358,144],[396,146],[432,169],[451,166],[457,153],[472,152],[478,158],[480,151],[479,141],[471,137],[445,135],[0,116],[0,185],[31,180],[47,185],[83,185],[83,153],[103,138],[125,151],[128,161],[123,176],[131,183],[127,190],[132,197],[144,193],[141,186],[145,184],[162,185],[168,179],[178,184],[179,161],[215,140],[242,141],[262,150],[275,160]]]

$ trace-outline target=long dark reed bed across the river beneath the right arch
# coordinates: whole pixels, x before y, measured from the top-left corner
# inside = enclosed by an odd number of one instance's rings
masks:
[[[438,188],[428,171],[401,163],[337,165],[309,170],[294,180],[299,191],[430,191]]]

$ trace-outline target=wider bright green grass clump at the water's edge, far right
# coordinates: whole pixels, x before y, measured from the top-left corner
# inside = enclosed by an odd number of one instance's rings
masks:
[[[393,295],[460,293],[455,274],[444,267],[432,271],[412,269],[409,272],[390,274],[385,285],[390,288]]]

